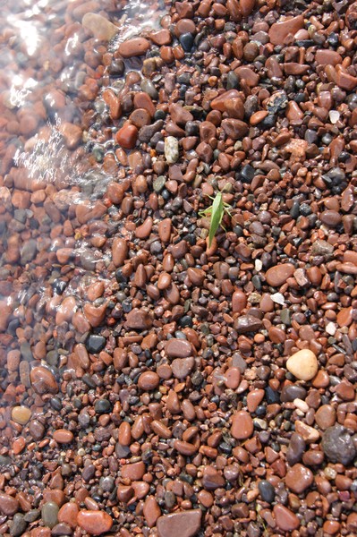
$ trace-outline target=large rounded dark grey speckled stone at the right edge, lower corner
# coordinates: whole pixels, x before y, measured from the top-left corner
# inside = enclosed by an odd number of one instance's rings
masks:
[[[348,430],[339,423],[325,430],[322,435],[321,447],[329,461],[342,465],[352,463],[357,453]]]

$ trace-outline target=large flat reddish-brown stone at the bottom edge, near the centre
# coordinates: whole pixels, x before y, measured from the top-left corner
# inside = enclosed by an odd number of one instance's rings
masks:
[[[157,519],[158,537],[193,537],[200,532],[201,516],[200,509],[160,516]]]

